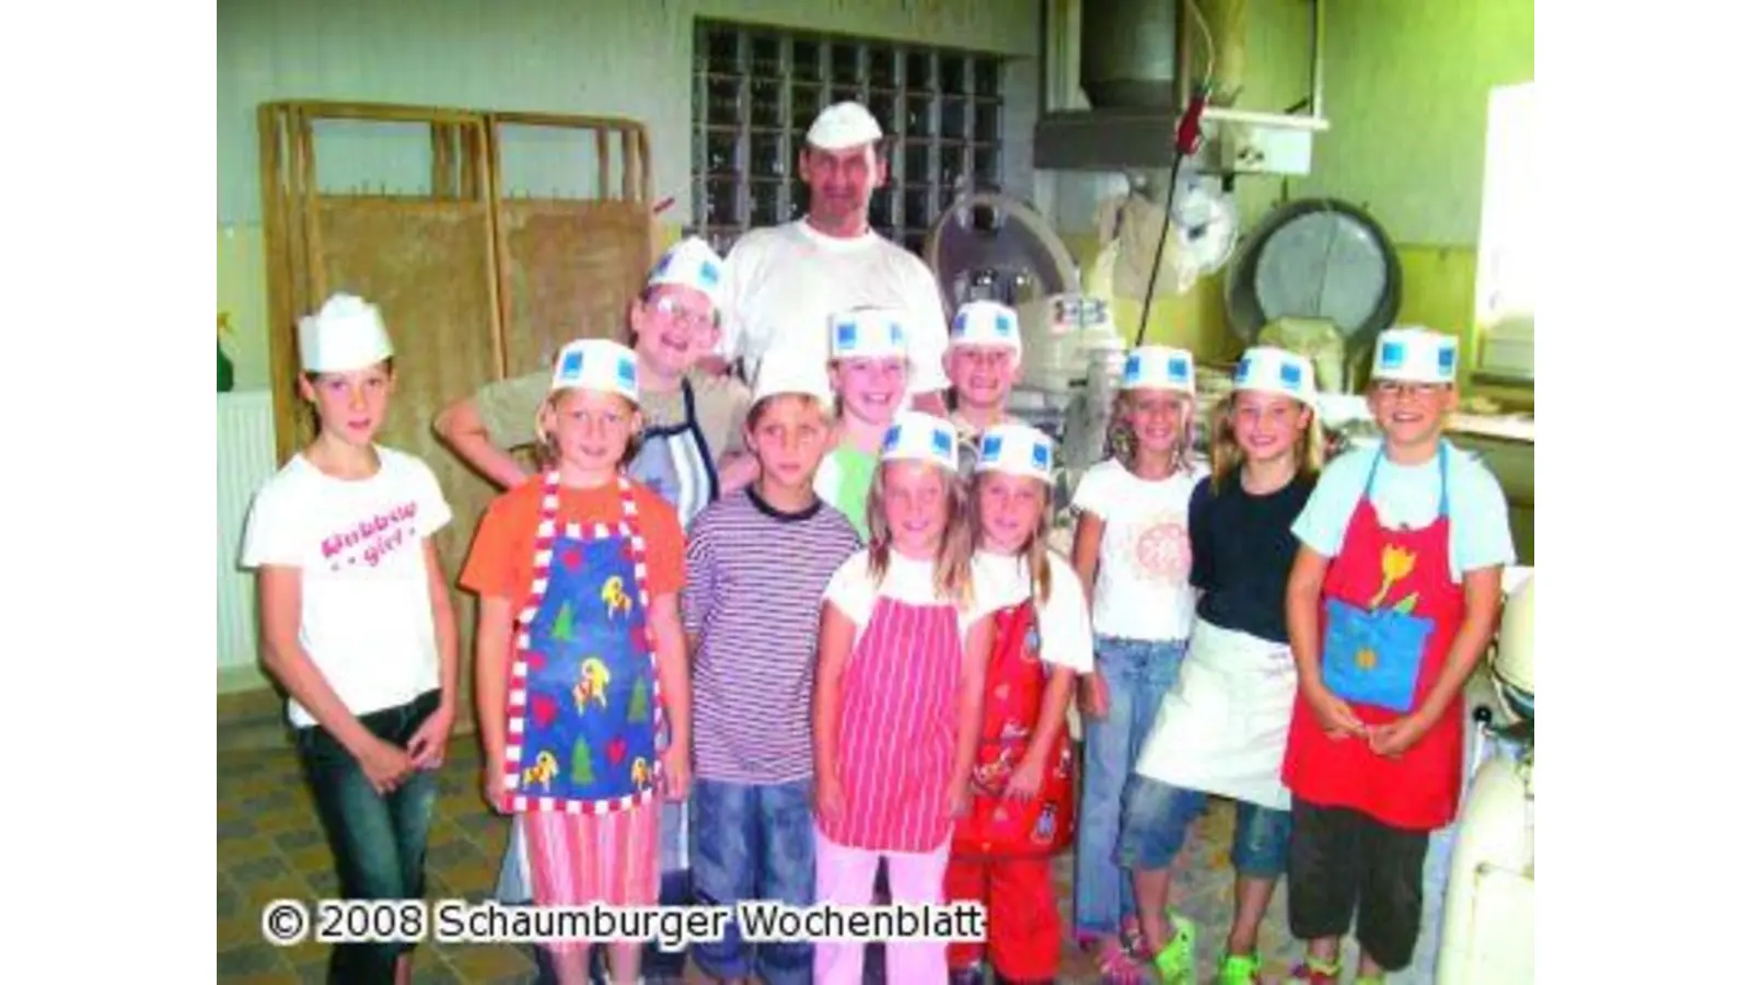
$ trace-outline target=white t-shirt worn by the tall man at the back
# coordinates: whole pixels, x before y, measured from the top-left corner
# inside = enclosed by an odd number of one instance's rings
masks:
[[[774,347],[812,352],[826,363],[826,319],[861,305],[907,308],[911,393],[949,389],[942,354],[949,322],[937,279],[905,249],[877,233],[842,240],[807,221],[749,230],[725,258],[723,338],[718,354],[746,359],[749,379]]]

